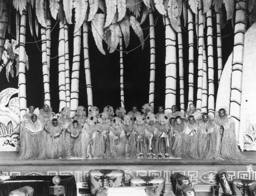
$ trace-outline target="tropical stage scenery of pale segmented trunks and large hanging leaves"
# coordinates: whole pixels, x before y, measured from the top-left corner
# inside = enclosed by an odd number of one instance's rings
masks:
[[[74,115],[78,105],[129,111],[151,103],[169,112],[176,104],[184,112],[192,102],[214,116],[230,56],[224,106],[239,130],[245,32],[255,21],[255,5],[253,0],[2,0],[0,90],[17,89],[20,118],[30,105],[48,104],[56,113],[69,106]]]

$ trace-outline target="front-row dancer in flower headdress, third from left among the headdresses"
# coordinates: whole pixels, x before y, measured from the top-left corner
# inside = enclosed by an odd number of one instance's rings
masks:
[[[111,121],[109,142],[109,152],[107,151],[107,153],[110,154],[110,157],[124,158],[127,140],[123,130],[122,120],[119,117],[115,117]]]

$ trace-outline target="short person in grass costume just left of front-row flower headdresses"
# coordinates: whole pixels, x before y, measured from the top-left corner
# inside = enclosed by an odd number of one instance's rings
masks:
[[[81,132],[82,126],[77,120],[69,125],[66,131],[66,152],[68,157],[81,157]],[[76,147],[75,147],[76,145]]]

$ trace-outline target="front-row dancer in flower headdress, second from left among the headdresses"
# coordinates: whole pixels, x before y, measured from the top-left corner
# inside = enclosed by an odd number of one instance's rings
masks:
[[[106,139],[109,135],[110,127],[111,127],[111,123],[110,123],[110,119],[109,119],[109,114],[105,113],[105,112],[101,113],[98,117],[97,129],[100,131],[100,133],[103,136],[104,154],[106,151]]]

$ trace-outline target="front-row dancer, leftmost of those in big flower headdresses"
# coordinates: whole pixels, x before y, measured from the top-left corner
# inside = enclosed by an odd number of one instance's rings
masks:
[[[82,157],[92,158],[92,145],[93,145],[93,134],[97,132],[98,127],[97,117],[89,115],[87,117],[87,122],[83,124],[81,133],[81,147],[82,147]]]

